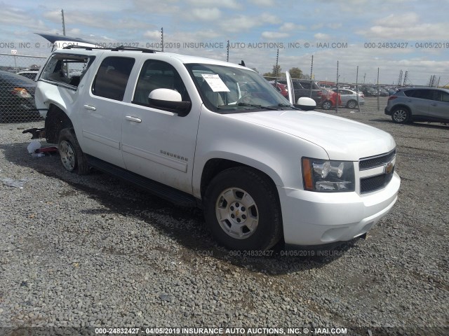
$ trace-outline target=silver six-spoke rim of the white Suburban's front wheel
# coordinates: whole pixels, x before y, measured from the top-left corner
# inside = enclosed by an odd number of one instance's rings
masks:
[[[253,197],[241,188],[224,190],[217,197],[215,214],[220,228],[234,239],[252,236],[260,221]]]

